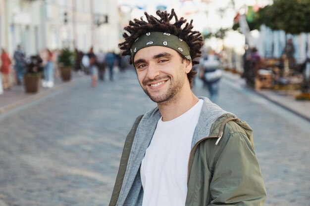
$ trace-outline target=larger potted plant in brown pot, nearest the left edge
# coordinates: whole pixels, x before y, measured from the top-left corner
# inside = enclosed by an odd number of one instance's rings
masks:
[[[25,62],[24,87],[25,92],[38,92],[43,66],[39,55],[30,56]]]

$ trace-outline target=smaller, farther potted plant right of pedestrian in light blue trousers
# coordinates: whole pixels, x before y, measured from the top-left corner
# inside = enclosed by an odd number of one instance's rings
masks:
[[[61,50],[58,63],[60,68],[61,79],[63,81],[71,80],[71,70],[73,67],[73,52],[68,48],[64,48]]]

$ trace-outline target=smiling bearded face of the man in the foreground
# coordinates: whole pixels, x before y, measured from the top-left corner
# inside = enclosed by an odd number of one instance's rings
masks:
[[[156,103],[169,102],[178,94],[187,80],[186,74],[192,69],[188,60],[164,46],[140,49],[135,55],[134,66],[140,85]]]

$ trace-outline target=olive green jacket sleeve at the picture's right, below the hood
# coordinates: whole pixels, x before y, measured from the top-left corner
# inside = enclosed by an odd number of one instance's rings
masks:
[[[210,182],[209,206],[263,206],[265,186],[248,137],[241,132],[228,135]]]

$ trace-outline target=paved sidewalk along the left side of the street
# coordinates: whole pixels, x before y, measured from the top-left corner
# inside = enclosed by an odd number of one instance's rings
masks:
[[[90,81],[90,77],[84,74],[78,75],[75,72],[72,72],[71,81],[63,82],[60,77],[56,77],[52,88],[44,88],[40,84],[40,88],[37,93],[26,93],[23,85],[13,85],[10,90],[5,90],[3,94],[0,94],[0,115],[64,89],[67,86],[86,80]]]

